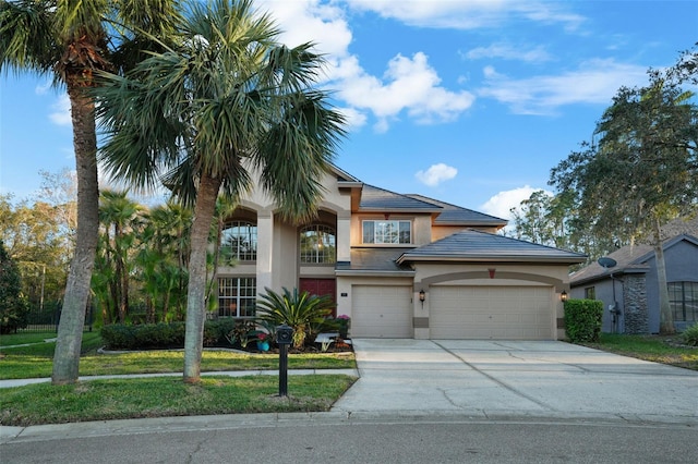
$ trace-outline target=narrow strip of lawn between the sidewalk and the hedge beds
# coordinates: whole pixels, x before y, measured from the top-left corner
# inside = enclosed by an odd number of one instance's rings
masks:
[[[14,337],[14,335],[11,335]],[[15,344],[5,342],[3,345]],[[40,338],[39,338],[40,340]],[[83,335],[80,358],[81,376],[181,373],[184,365],[182,351],[154,350],[143,352],[99,354],[103,345],[98,333]],[[2,349],[0,380],[50,377],[55,343]],[[278,369],[278,354],[246,354],[224,350],[205,350],[202,371]],[[353,353],[289,354],[289,369],[352,369]]]

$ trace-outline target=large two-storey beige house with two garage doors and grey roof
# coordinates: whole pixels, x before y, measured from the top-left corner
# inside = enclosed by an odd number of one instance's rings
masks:
[[[586,256],[496,232],[506,221],[400,195],[333,167],[316,219],[296,225],[260,191],[227,219],[218,316],[250,317],[269,288],[330,294],[352,337],[555,340]]]

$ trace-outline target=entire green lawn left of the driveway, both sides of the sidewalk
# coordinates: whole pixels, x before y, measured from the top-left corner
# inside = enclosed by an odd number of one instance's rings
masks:
[[[53,334],[55,335],[55,334]],[[0,379],[50,377],[55,343],[51,333],[3,335]],[[98,333],[84,333],[81,376],[181,373],[182,351],[99,354]],[[278,354],[206,350],[202,371],[278,369]],[[289,369],[354,368],[353,353],[289,354]],[[205,414],[328,411],[356,379],[341,375],[289,376],[287,398],[278,396],[278,376],[230,378],[206,376],[188,384],[181,377],[89,380],[2,389],[0,424],[29,426],[86,420]]]

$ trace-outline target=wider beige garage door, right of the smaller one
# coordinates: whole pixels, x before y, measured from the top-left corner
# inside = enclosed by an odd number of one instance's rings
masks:
[[[432,339],[554,340],[552,288],[432,286]]]

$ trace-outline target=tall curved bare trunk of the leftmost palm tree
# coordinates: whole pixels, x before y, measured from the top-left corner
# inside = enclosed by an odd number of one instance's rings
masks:
[[[97,137],[95,105],[83,88],[68,83],[73,122],[73,145],[77,174],[77,233],[75,255],[65,285],[63,310],[58,326],[53,354],[53,384],[77,381],[80,351],[89,297],[89,280],[95,266],[99,228],[99,187],[97,184]]]

